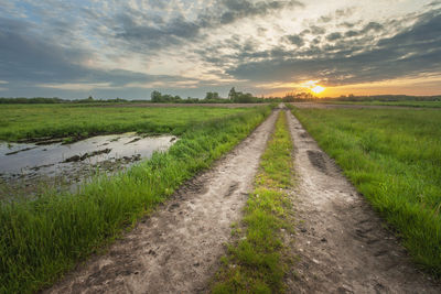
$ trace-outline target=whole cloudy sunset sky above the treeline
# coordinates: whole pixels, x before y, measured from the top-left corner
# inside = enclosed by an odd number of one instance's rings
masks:
[[[0,0],[0,97],[440,95],[441,0]]]

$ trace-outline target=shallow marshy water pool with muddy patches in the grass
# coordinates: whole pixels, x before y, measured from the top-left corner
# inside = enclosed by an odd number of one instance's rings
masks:
[[[123,171],[174,142],[173,135],[136,133],[98,135],[71,144],[1,142],[0,195],[35,194],[43,183],[72,189],[97,172]]]

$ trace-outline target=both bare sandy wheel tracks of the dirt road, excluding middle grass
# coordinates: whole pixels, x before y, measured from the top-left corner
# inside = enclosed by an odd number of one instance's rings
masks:
[[[215,274],[230,224],[241,217],[277,112],[110,247],[47,293],[200,293]],[[411,263],[384,221],[287,111],[298,183],[299,261],[288,293],[441,293]]]

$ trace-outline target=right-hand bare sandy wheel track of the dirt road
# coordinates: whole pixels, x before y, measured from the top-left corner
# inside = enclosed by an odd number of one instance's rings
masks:
[[[300,258],[287,280],[289,293],[441,293],[300,122],[288,116],[298,176],[293,251]]]

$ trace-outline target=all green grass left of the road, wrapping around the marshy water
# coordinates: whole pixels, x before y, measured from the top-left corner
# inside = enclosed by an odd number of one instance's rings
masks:
[[[166,153],[154,153],[126,173],[98,176],[78,193],[51,190],[32,200],[0,203],[0,292],[29,293],[115,240],[246,138],[270,107],[8,106],[0,111],[1,138],[8,140],[122,131],[180,134]]]

